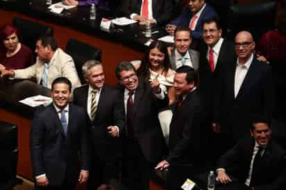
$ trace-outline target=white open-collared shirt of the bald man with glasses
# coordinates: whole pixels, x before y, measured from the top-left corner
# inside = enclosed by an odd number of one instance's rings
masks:
[[[244,78],[249,71],[249,67],[251,66],[251,62],[253,61],[253,53],[251,54],[251,58],[247,60],[244,64],[239,64],[237,58],[237,66],[235,69],[235,98],[239,92],[240,87],[244,81]]]

